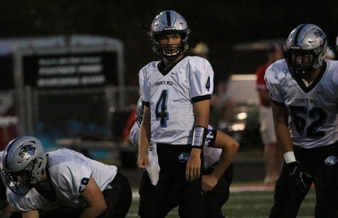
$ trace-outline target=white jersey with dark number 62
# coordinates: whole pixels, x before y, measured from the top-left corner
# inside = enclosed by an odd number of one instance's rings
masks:
[[[325,61],[325,72],[309,87],[294,80],[284,59],[265,72],[273,102],[287,107],[295,146],[316,148],[338,140],[338,61]]]

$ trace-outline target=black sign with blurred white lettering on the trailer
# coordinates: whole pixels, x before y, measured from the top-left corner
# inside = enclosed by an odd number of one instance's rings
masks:
[[[23,84],[37,89],[117,84],[117,53],[23,56]]]

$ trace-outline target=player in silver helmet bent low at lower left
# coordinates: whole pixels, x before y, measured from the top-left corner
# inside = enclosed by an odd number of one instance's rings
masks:
[[[127,178],[70,149],[45,153],[21,136],[4,151],[1,177],[7,200],[25,217],[125,217],[132,201]]]

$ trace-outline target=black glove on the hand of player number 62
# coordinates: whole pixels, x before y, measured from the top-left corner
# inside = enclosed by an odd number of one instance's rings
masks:
[[[289,168],[289,176],[295,181],[295,187],[300,192],[307,192],[312,184],[312,175],[302,168],[302,165],[298,161],[294,161],[287,164]]]

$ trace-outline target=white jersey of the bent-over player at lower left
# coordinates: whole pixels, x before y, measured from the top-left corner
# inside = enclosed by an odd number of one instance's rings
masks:
[[[85,207],[85,200],[80,195],[85,190],[90,178],[94,178],[100,190],[112,188],[108,185],[115,178],[117,167],[105,165],[83,154],[67,148],[48,153],[48,169],[51,183],[56,190],[56,202],[60,206],[73,208]],[[38,194],[35,189],[29,195],[15,196],[14,192],[7,192],[7,199],[11,205],[22,210],[53,208],[55,202],[49,202]]]

